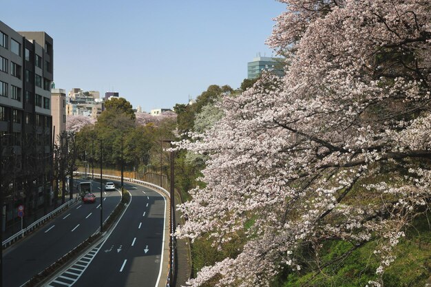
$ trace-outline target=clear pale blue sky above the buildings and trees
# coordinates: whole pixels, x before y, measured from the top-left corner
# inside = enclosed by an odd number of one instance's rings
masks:
[[[119,92],[145,111],[238,88],[286,10],[275,0],[1,0],[0,20],[54,39],[54,82]]]

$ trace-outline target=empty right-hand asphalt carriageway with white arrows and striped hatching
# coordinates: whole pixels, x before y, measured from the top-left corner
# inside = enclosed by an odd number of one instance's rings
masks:
[[[109,237],[48,282],[52,287],[155,287],[162,274],[167,203],[156,191],[125,184],[132,195]]]

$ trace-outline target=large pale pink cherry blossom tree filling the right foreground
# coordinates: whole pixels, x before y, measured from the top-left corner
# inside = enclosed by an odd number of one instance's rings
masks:
[[[341,257],[376,240],[368,284],[380,286],[406,227],[430,208],[430,3],[280,1],[268,43],[288,55],[286,76],[225,97],[222,120],[178,142],[209,159],[176,235],[220,249],[246,237],[188,284],[269,286],[303,267],[304,248],[318,256],[338,239],[352,246]]]

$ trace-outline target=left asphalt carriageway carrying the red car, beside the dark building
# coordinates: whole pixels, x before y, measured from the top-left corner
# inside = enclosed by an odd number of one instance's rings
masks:
[[[3,286],[19,287],[81,244],[100,227],[100,183],[94,182],[94,204],[78,202],[45,226],[3,252]],[[120,202],[118,191],[103,194],[103,220]]]

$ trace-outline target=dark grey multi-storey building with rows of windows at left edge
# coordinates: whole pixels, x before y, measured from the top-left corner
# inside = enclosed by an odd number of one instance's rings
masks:
[[[0,210],[7,221],[26,196],[28,206],[50,202],[53,52],[45,32],[17,32],[0,21]]]

